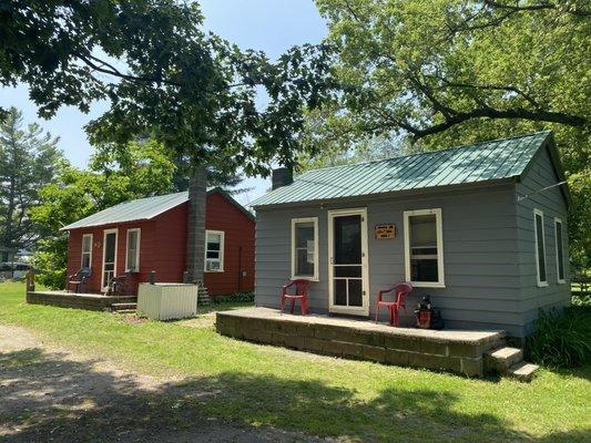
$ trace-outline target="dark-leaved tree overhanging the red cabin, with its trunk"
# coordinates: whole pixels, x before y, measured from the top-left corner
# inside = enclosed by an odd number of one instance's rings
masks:
[[[294,48],[271,62],[203,31],[196,2],[12,0],[0,22],[0,83],[28,83],[41,115],[108,100],[110,110],[88,126],[93,143],[149,133],[188,156],[198,204],[190,208],[187,270],[197,277],[205,168],[266,175],[272,162],[293,165],[302,110],[329,86],[325,47]],[[258,107],[262,91],[268,105]]]

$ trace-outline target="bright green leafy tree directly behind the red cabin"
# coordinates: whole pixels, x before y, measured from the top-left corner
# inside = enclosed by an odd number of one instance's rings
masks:
[[[41,202],[31,209],[31,220],[41,234],[33,257],[40,281],[63,288],[68,258],[68,234],[60,230],[63,226],[121,202],[171,192],[175,169],[153,140],[100,146],[84,171],[64,165],[59,176],[41,188]]]

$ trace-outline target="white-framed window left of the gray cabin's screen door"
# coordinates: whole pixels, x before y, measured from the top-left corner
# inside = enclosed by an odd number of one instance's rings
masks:
[[[292,278],[318,280],[318,218],[292,219]]]

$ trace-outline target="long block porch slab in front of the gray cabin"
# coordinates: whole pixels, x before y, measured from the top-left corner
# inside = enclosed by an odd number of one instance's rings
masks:
[[[505,331],[394,328],[320,315],[247,308],[216,313],[218,333],[327,356],[482,377],[483,354],[505,344]]]

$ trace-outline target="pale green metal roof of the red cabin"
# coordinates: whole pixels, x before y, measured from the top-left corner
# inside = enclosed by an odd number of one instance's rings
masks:
[[[236,205],[247,217],[254,219],[253,214],[246,210],[238,202],[236,202],[226,190],[220,187],[212,187],[207,189],[207,195],[218,193]],[[61,230],[70,230],[78,228],[86,228],[91,226],[113,225],[118,223],[150,220],[155,216],[165,213],[188,200],[188,192],[159,195],[156,197],[140,198],[136,200],[123,202],[119,205],[111,206],[96,214],[90,215],[78,222],[61,228]]]

